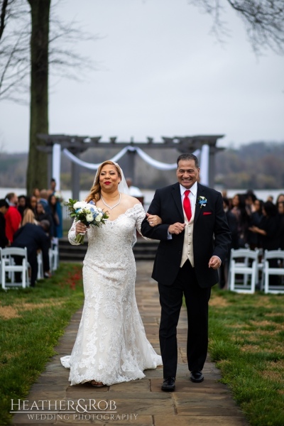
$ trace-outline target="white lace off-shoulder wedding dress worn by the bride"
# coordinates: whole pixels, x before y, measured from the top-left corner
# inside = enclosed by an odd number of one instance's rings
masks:
[[[71,356],[71,385],[87,381],[114,383],[145,377],[143,370],[162,364],[148,342],[135,297],[136,265],[133,231],[141,228],[145,211],[135,204],[114,221],[87,231],[84,258],[84,309]],[[75,241],[75,224],[68,234]]]

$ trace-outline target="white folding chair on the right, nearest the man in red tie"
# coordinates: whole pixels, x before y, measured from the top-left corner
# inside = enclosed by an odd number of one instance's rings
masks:
[[[231,249],[229,266],[230,290],[236,293],[254,293],[258,277],[258,250]],[[241,280],[236,275],[244,275]],[[249,280],[249,277],[251,279]]]

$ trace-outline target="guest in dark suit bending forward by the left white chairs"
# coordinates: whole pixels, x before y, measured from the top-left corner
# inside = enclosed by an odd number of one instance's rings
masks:
[[[22,249],[26,247],[28,250],[28,263],[31,265],[31,287],[35,287],[35,280],[38,276],[38,250],[43,253],[43,271],[45,274],[50,275],[48,256],[50,238],[47,234],[48,229],[49,222],[47,220],[42,220],[38,225],[26,224],[21,226],[16,231],[11,244],[13,247],[21,247]],[[15,256],[16,264],[18,261],[19,259]]]

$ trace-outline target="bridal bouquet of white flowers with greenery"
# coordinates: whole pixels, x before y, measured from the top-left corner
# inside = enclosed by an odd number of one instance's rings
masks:
[[[93,201],[78,201],[69,199],[69,202],[64,203],[68,207],[70,217],[73,217],[76,222],[82,222],[86,226],[101,226],[108,218],[107,212],[96,207]],[[77,243],[84,243],[84,234],[77,234],[75,240]]]

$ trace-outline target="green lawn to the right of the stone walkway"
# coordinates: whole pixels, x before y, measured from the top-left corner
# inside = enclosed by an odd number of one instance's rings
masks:
[[[214,289],[209,353],[250,425],[284,425],[284,295]]]

